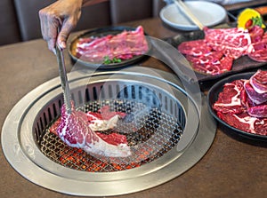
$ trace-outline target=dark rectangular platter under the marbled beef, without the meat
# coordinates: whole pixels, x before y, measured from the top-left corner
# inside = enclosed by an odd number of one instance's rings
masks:
[[[226,27],[230,28],[231,26],[222,25],[216,28],[226,28]],[[189,33],[180,34],[174,37],[166,38],[166,42],[172,44],[175,48],[177,48],[179,44],[182,44],[182,42],[203,39],[204,36],[205,34],[203,31],[193,31]],[[206,83],[208,81],[221,79],[223,77],[226,77],[227,75],[238,74],[248,69],[256,69],[259,67],[263,67],[265,65],[267,65],[266,62],[256,62],[255,60],[249,59],[247,56],[243,56],[239,59],[234,60],[231,71],[225,72],[221,75],[205,75],[198,73],[197,71],[195,73],[199,83]]]

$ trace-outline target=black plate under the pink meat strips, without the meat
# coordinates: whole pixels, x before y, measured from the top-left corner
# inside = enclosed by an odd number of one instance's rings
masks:
[[[87,31],[81,35],[74,37],[73,39],[71,39],[70,42],[68,42],[69,56],[74,62],[77,62],[79,65],[83,65],[83,66],[91,67],[91,68],[116,68],[116,67],[124,67],[124,66],[128,66],[133,63],[136,63],[137,61],[140,61],[141,59],[143,59],[146,55],[142,54],[142,55],[134,56],[133,59],[125,59],[119,63],[100,64],[100,63],[94,63],[94,62],[89,62],[89,61],[85,61],[82,59],[78,59],[72,52],[75,47],[74,44],[77,42],[79,38],[85,38],[85,37],[90,37],[90,36],[101,37],[101,36],[108,36],[108,35],[117,35],[123,32],[124,30],[133,31],[135,29],[136,28],[119,26],[119,27],[96,28],[96,29]],[[148,41],[148,44],[149,44],[149,51],[150,51],[149,41]]]

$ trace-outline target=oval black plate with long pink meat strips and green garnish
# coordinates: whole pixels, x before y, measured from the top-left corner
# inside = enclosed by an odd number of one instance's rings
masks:
[[[93,68],[115,68],[145,57],[150,44],[142,26],[96,28],[69,42],[72,60]]]

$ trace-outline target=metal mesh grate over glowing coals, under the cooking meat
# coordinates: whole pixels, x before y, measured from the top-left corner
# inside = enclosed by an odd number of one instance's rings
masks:
[[[85,107],[79,107],[79,110],[97,111],[105,105],[109,105],[110,110],[125,113],[131,113],[145,107],[144,104],[133,100],[117,99],[89,102]],[[158,159],[171,150],[179,142],[182,135],[182,127],[177,120],[172,115],[166,115],[159,108],[151,108],[148,115],[142,115],[137,120],[138,124],[142,126],[138,131],[134,131],[124,124],[117,126],[117,131],[126,136],[128,145],[132,148],[133,154],[126,160],[101,161],[86,154],[81,149],[69,147],[50,131],[51,124],[50,127],[44,129],[40,149],[53,162],[74,170],[110,172],[133,169]],[[55,120],[52,123],[54,122]],[[111,131],[104,132],[109,133]]]

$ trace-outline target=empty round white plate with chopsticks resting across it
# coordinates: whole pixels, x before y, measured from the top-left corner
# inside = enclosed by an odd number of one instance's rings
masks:
[[[184,2],[190,11],[206,27],[211,27],[223,22],[227,14],[225,9],[219,5],[204,1]],[[159,13],[161,20],[173,28],[182,30],[196,30],[198,27],[177,8],[175,4],[166,5]]]

